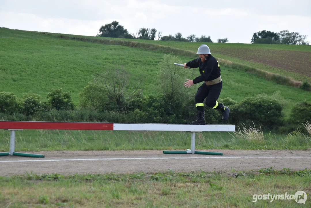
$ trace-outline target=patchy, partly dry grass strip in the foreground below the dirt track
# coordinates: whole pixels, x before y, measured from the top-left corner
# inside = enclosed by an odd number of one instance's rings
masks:
[[[0,177],[1,207],[309,207],[295,200],[257,200],[264,194],[309,192],[310,170],[260,174],[166,172],[62,176],[56,173]],[[258,198],[259,199],[259,198]]]

